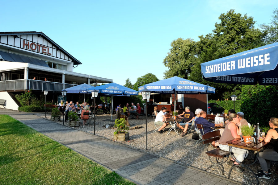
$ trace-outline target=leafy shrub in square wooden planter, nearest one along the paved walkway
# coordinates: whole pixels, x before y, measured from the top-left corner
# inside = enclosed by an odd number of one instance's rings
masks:
[[[128,141],[129,140],[129,132],[125,130],[129,130],[129,127],[126,125],[126,121],[124,118],[115,120],[115,128],[117,131],[114,132],[114,140],[117,141]]]

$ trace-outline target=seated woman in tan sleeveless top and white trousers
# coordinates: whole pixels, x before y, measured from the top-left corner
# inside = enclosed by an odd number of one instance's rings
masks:
[[[221,150],[225,150],[225,151],[229,151],[229,147],[228,144],[226,143],[227,141],[233,140],[233,139],[240,139],[240,135],[238,135],[238,127],[235,123],[239,122],[239,117],[237,116],[236,113],[231,113],[229,114],[229,116],[227,116],[229,122],[226,125],[224,132],[219,140],[219,148]],[[198,118],[199,119],[199,118]],[[236,147],[231,147],[231,152],[234,153],[234,158],[238,161],[238,162],[242,162],[248,155],[248,151],[245,149],[241,149],[241,148],[236,148]],[[233,159],[231,159],[229,162],[229,165],[237,165],[238,163],[235,162]],[[233,168],[238,172],[243,172],[244,169],[240,166]]]

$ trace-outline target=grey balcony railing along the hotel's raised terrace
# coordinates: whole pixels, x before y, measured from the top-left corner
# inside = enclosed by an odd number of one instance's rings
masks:
[[[63,84],[40,80],[7,80],[0,81],[0,91],[16,90],[40,90],[40,91],[62,91],[62,89],[73,87],[75,84]]]

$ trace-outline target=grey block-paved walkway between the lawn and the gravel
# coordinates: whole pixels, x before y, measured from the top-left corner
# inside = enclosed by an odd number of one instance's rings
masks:
[[[0,109],[23,124],[137,184],[240,184],[206,171],[159,158],[139,150],[48,121],[31,113]]]

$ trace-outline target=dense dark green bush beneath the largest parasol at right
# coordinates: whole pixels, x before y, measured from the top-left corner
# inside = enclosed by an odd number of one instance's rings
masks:
[[[251,124],[269,127],[271,117],[278,117],[278,86],[243,85],[241,111]]]

